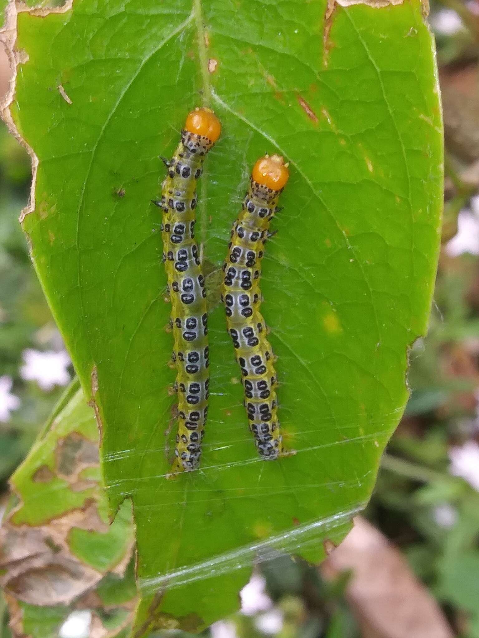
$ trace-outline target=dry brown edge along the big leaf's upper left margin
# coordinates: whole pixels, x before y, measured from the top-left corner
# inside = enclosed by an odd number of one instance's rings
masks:
[[[72,9],[72,6],[73,0],[66,0],[63,6],[49,9],[31,8],[26,6],[26,4],[22,2],[8,0],[8,4],[4,11],[4,26],[0,29],[0,42],[2,42],[5,47],[5,52],[8,57],[8,63],[11,71],[11,78],[9,89],[3,100],[0,102],[0,117],[5,122],[11,135],[17,138],[19,144],[22,145],[29,154],[31,159],[32,172],[29,201],[26,207],[20,213],[20,224],[26,218],[27,214],[33,212],[35,209],[35,187],[36,172],[38,170],[38,157],[36,156],[31,146],[27,143],[27,141],[24,140],[24,138],[22,138],[22,136],[20,135],[10,113],[10,105],[13,102],[13,98],[15,96],[15,88],[17,85],[18,66],[19,64],[26,64],[28,61],[28,52],[15,49],[15,44],[17,42],[18,15],[19,13],[30,13],[30,15],[44,18],[47,17],[47,15],[49,15],[50,13],[66,13],[67,11],[70,11]]]

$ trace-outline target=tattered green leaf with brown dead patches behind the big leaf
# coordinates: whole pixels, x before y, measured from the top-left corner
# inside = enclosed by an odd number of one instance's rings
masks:
[[[92,600],[111,635],[131,623],[132,511],[125,501],[109,526],[98,470],[95,416],[73,382],[10,481],[0,582],[19,634],[54,638]]]

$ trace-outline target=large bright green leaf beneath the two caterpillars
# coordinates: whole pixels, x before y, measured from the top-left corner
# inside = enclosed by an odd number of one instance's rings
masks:
[[[199,630],[236,608],[268,542],[320,560],[321,541],[338,542],[369,499],[406,404],[407,348],[427,327],[440,231],[432,38],[418,0],[325,11],[325,0],[75,0],[63,14],[19,14],[28,61],[11,112],[39,161],[23,226],[102,423],[110,509],[133,501],[138,636]],[[210,282],[255,159],[290,162],[261,287],[280,421],[297,453],[257,462],[211,285],[202,468],[165,480],[174,372],[150,200],[158,155],[200,103],[223,124],[198,212]]]

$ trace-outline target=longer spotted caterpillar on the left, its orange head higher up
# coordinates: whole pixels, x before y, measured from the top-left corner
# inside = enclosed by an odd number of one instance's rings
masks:
[[[186,117],[181,142],[171,159],[163,159],[168,174],[162,183],[163,263],[171,300],[172,362],[177,370],[178,433],[171,473],[195,470],[208,414],[209,350],[206,290],[194,239],[196,182],[206,153],[220,137],[221,124],[207,108]]]

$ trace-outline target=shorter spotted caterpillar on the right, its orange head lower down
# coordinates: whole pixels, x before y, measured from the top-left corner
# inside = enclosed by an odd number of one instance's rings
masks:
[[[259,311],[263,247],[270,236],[270,221],[279,210],[279,195],[288,179],[289,171],[281,156],[265,155],[258,159],[241,212],[232,227],[229,252],[223,265],[222,302],[227,330],[241,367],[250,431],[259,456],[264,459],[293,453],[286,452],[282,444],[273,350],[266,339],[266,326]]]

